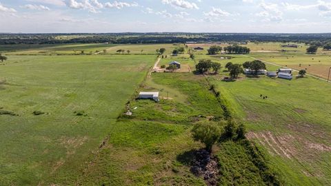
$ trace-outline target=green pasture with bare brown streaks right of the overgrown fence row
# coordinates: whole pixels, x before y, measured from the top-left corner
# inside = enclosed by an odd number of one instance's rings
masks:
[[[330,183],[330,161],[325,159],[331,146],[330,84],[310,77],[243,77],[229,83],[210,79],[235,117],[259,137],[254,141],[268,149],[270,163],[286,185]]]

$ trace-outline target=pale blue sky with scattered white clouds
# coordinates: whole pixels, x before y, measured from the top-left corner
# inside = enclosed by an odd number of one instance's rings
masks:
[[[331,32],[331,0],[0,0],[0,32]]]

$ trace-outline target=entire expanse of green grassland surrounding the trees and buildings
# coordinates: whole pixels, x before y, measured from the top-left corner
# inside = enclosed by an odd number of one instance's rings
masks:
[[[1,45],[8,61],[0,65],[0,185],[206,185],[190,171],[193,152],[203,147],[190,130],[199,121],[223,120],[224,105],[256,145],[215,145],[219,185],[270,185],[270,175],[283,185],[328,185],[330,83],[310,76],[224,82],[224,68],[219,75],[152,73],[145,79],[158,48],[168,55],[159,66],[179,61],[191,70],[200,59],[222,66],[251,57],[292,68],[301,63],[312,74],[314,65],[331,64],[323,51],[304,54],[307,46],[300,45],[280,52],[280,45],[248,43],[254,52],[247,56],[203,50],[195,61],[170,56],[178,47],[172,44]],[[119,49],[130,54],[116,54]],[[107,52],[88,55],[96,50]],[[161,101],[135,100],[139,91],[159,91]],[[132,116],[123,115],[126,107]]]

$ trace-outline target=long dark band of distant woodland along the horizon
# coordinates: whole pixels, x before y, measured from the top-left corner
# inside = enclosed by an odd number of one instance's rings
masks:
[[[186,43],[186,42],[296,42],[322,47],[331,42],[331,34],[245,34],[245,33],[106,33],[81,34],[81,37],[59,39],[77,34],[0,34],[0,44],[60,43]],[[127,37],[130,36],[130,37]],[[190,37],[188,37],[190,36]]]

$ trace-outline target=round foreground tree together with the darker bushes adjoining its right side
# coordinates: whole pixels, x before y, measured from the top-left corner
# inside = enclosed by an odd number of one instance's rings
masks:
[[[212,146],[218,141],[245,139],[245,126],[234,121],[226,123],[203,122],[197,123],[192,128],[194,141],[205,144],[205,149],[212,152]]]

